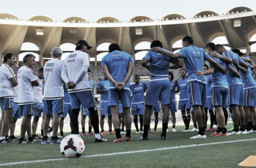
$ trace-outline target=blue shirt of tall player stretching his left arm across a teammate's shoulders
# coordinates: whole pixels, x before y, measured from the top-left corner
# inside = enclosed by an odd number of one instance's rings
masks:
[[[203,72],[203,61],[210,58],[205,50],[203,50],[203,48],[198,48],[195,45],[191,45],[181,48],[178,53],[185,62],[187,74],[189,75],[188,82],[198,81],[206,84],[207,81],[205,76],[200,77],[195,75],[197,71]]]

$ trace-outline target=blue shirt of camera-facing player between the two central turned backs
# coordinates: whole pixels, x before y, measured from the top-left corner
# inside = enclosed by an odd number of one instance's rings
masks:
[[[131,103],[145,103],[144,92],[147,89],[146,83],[133,83],[130,85],[130,88],[131,93],[133,93],[133,99],[131,99]]]

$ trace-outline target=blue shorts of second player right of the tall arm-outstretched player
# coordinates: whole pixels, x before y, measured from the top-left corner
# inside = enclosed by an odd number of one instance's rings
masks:
[[[228,89],[228,103],[243,106],[243,85],[231,85]]]

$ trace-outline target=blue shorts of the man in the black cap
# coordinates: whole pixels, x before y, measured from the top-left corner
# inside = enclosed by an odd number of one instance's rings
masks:
[[[70,93],[69,94],[70,98],[70,103],[71,103],[71,108],[80,108],[81,105],[85,108],[96,108],[96,102],[94,99],[94,94],[92,93],[92,90],[88,91],[80,91],[80,92],[75,92],[75,93]]]

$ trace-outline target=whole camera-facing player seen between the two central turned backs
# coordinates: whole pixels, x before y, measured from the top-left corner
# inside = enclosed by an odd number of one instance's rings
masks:
[[[135,75],[135,83],[130,85],[133,98],[131,99],[131,115],[136,128],[136,133],[143,133],[143,114],[144,114],[144,92],[147,89],[145,82],[140,82],[138,74]],[[138,127],[138,116],[140,127]]]

